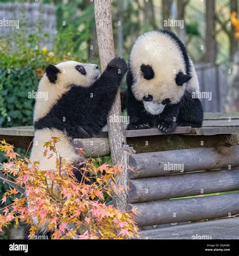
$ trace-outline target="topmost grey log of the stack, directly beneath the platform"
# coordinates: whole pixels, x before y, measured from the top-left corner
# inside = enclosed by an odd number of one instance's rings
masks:
[[[134,154],[129,158],[129,178],[145,178],[239,166],[239,146],[194,148]],[[178,166],[183,164],[183,172]],[[168,166],[170,168],[168,168]]]

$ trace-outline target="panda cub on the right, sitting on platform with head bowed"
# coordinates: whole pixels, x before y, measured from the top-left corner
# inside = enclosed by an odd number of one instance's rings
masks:
[[[135,41],[127,74],[129,130],[177,126],[201,127],[198,77],[186,48],[169,31],[150,31]]]

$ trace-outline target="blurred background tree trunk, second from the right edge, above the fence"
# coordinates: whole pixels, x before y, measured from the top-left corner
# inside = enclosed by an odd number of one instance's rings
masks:
[[[215,35],[215,0],[206,0],[206,62],[216,61]]]

